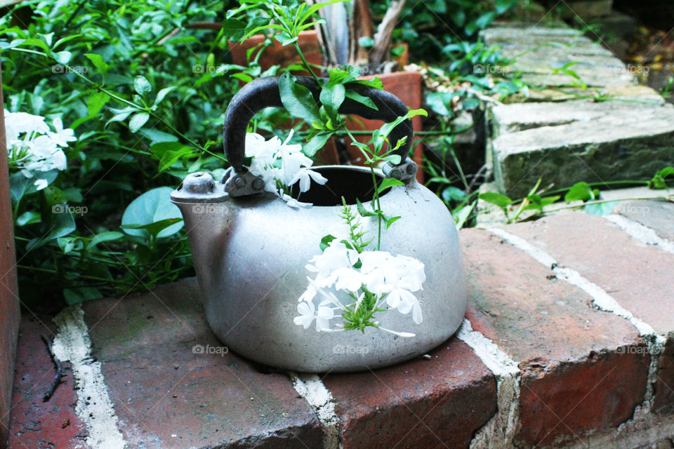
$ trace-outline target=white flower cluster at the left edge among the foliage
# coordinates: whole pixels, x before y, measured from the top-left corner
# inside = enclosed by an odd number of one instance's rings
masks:
[[[74,130],[63,129],[60,118],[53,120],[53,128],[44,122],[44,117],[26,112],[4,111],[5,135],[10,163],[21,169],[27,177],[34,177],[34,171],[65,170],[67,160],[61,147],[77,140]],[[48,182],[38,175],[34,182],[38,190],[47,187]]]

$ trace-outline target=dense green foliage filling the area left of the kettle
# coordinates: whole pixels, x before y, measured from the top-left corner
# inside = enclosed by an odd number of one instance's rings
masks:
[[[239,86],[225,74],[238,68],[213,67],[227,51],[222,34],[185,29],[215,17],[221,4],[29,6],[28,24],[13,26],[13,13],[0,18],[6,108],[60,118],[78,140],[48,187],[25,189],[22,175],[11,176],[22,300],[48,306],[62,293],[77,302],[192,273],[184,231],[162,233],[169,223],[161,221],[143,235],[118,226],[142,192],[223,164],[210,148],[222,105]],[[36,239],[40,246],[31,245]]]

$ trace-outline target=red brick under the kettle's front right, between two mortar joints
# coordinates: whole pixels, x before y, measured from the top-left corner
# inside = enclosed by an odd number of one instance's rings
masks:
[[[473,351],[451,339],[414,361],[328,375],[344,449],[468,448],[496,411],[496,382]]]

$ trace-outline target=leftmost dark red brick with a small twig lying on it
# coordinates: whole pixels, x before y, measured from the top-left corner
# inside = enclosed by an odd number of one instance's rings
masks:
[[[48,316],[24,317],[18,340],[12,398],[9,448],[82,448],[86,427],[77,414],[77,394],[73,389],[70,364],[63,363],[65,377],[47,402],[42,396],[56,370],[40,335],[53,335]]]

